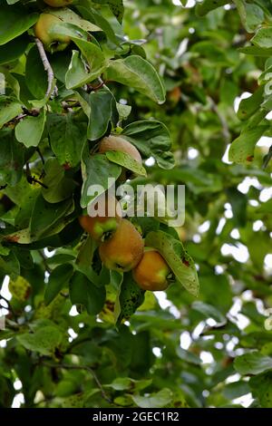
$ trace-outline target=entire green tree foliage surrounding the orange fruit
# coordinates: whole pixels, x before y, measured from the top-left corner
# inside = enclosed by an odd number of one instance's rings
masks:
[[[0,0],[0,407],[272,407],[272,6],[189,3],[74,1],[44,50],[48,6]],[[79,225],[121,166],[186,185],[184,227],[134,222],[185,259],[165,293]]]

